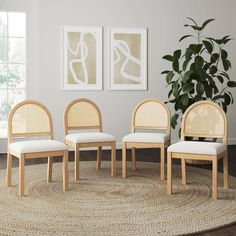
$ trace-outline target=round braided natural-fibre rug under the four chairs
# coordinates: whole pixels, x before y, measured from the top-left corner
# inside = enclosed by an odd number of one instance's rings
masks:
[[[61,163],[53,164],[53,182],[46,182],[45,164],[26,167],[27,197],[18,198],[18,168],[13,187],[0,171],[0,235],[183,235],[236,222],[236,178],[211,200],[211,171],[188,167],[188,185],[181,185],[180,166],[173,166],[174,194],[166,195],[159,164],[128,165],[128,178],[110,176],[110,162],[84,161],[79,181],[69,163],[69,191],[62,191]]]

